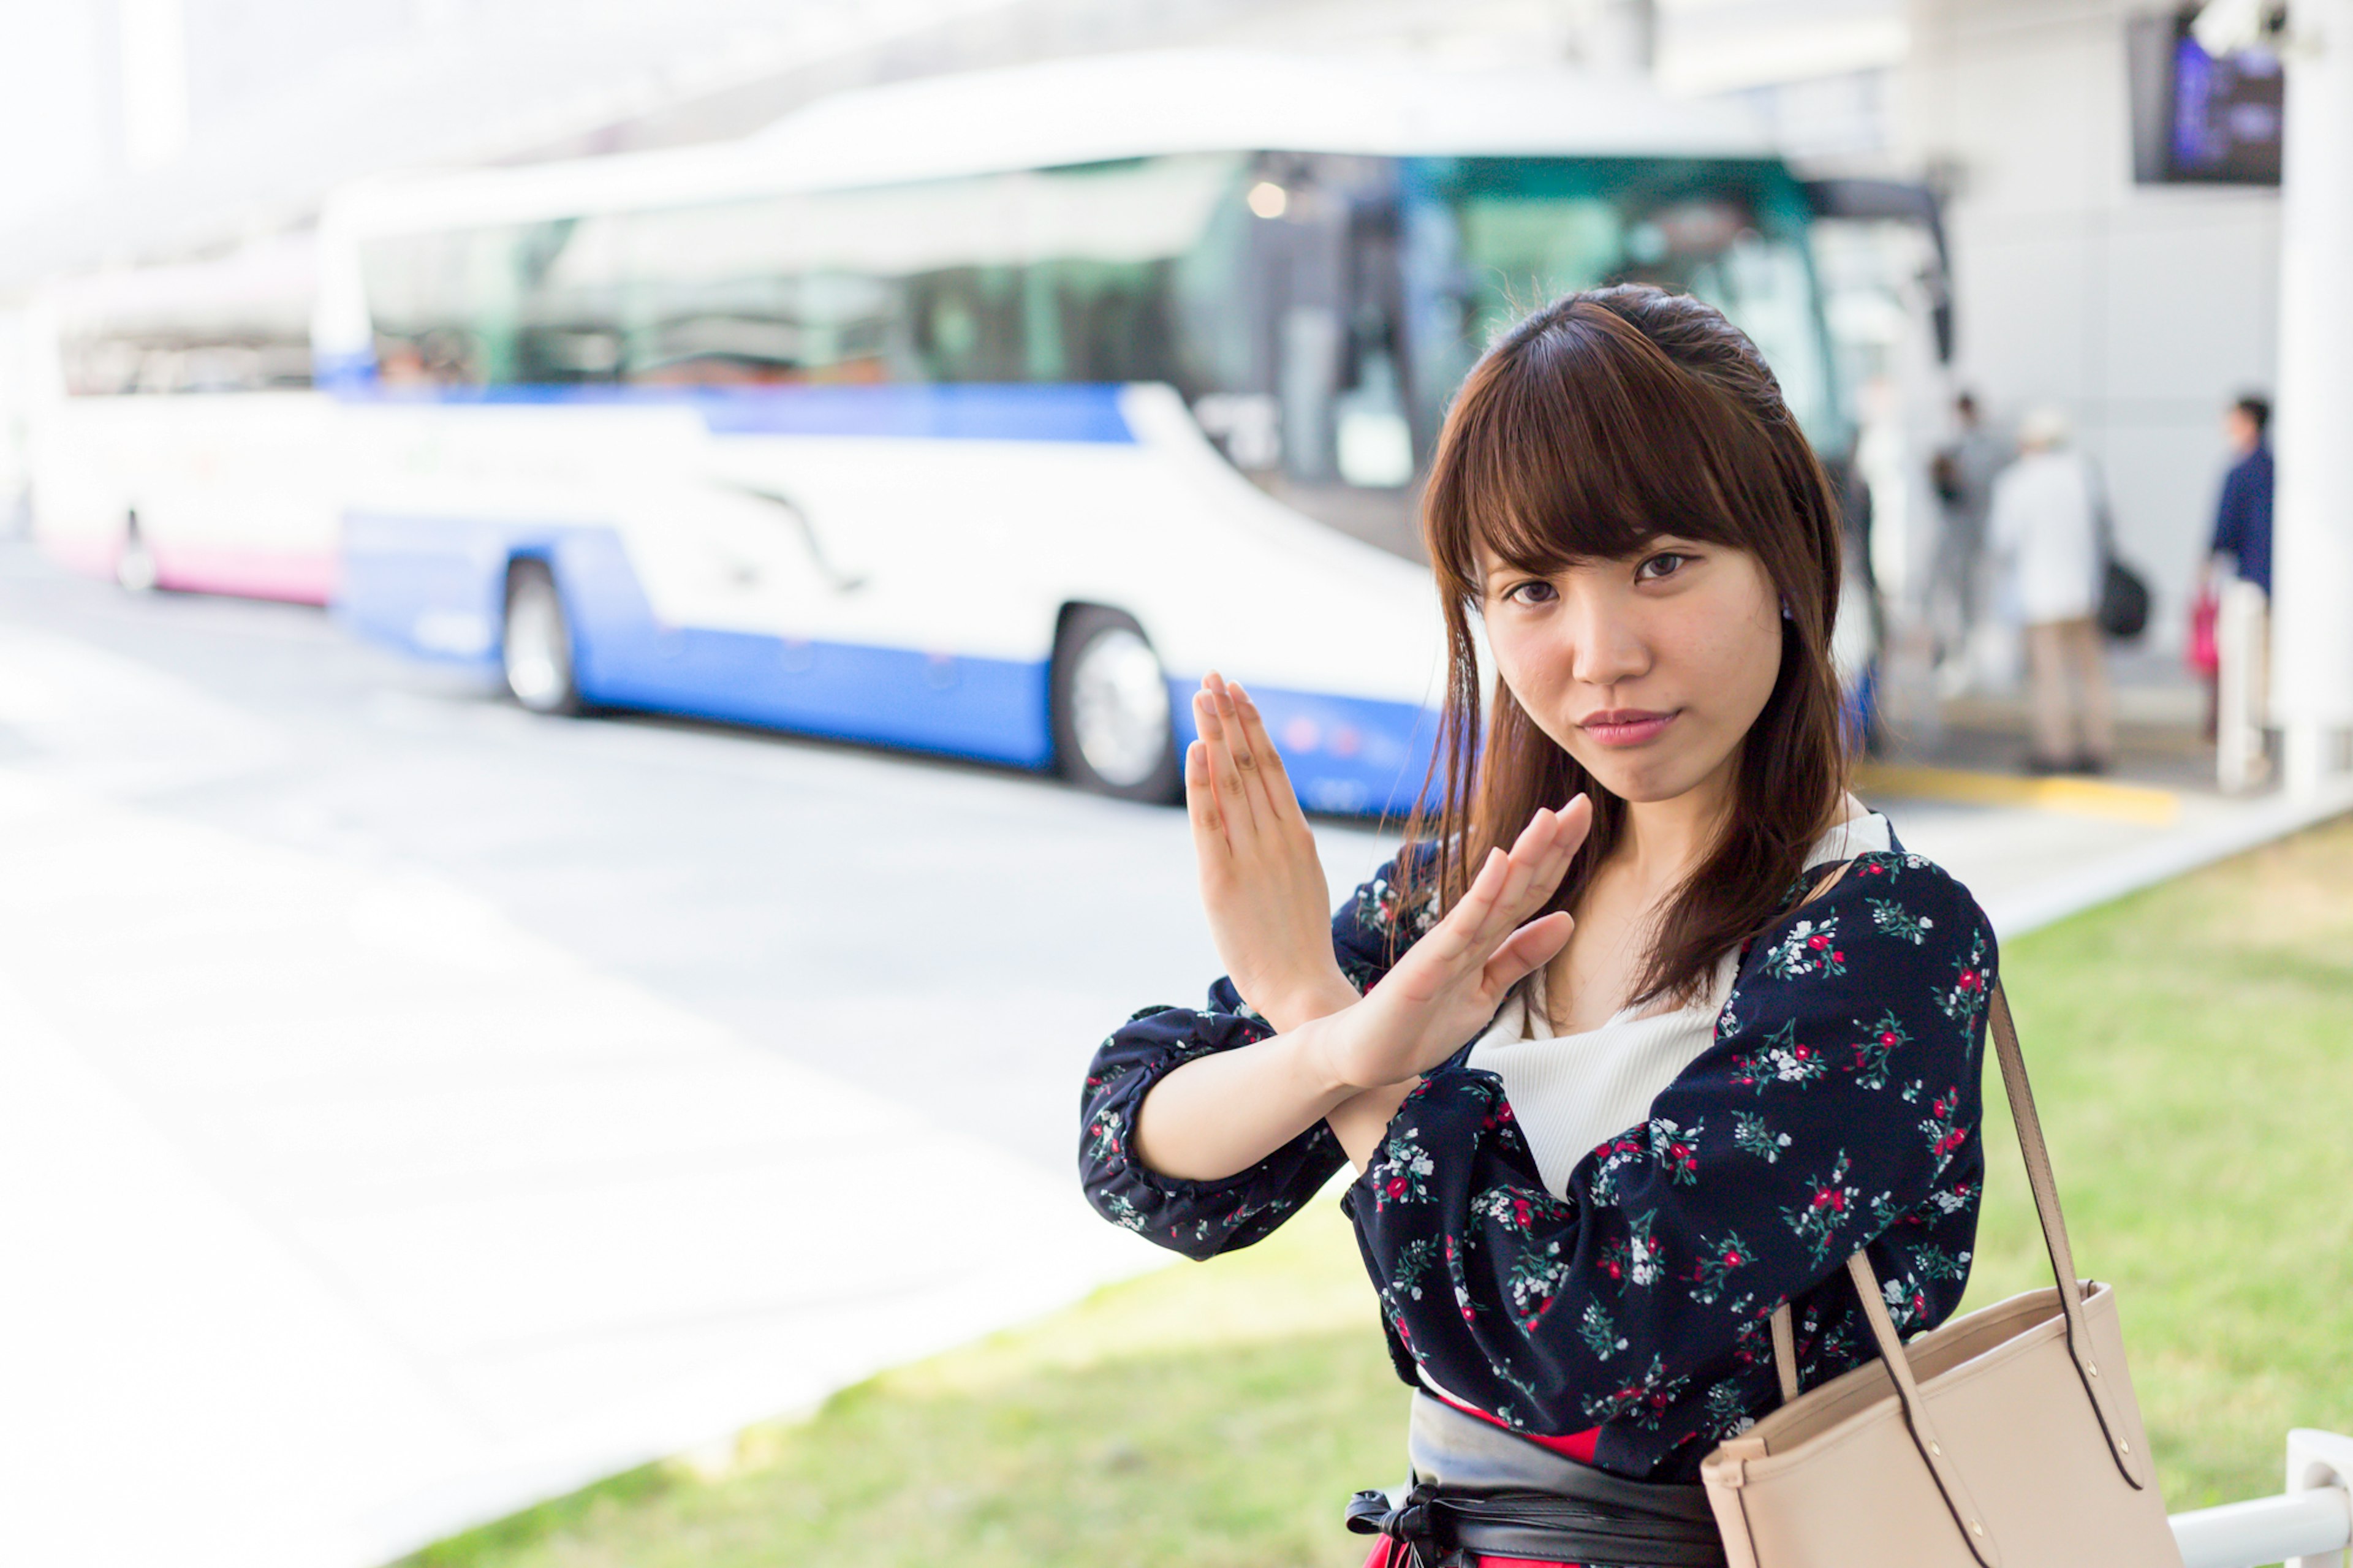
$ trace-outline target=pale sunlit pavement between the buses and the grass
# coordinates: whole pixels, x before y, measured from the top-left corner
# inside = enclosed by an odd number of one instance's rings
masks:
[[[2005,932],[2327,810],[1908,789]],[[1153,1267],[1071,1109],[1214,970],[1191,881],[1176,812],[0,544],[0,1559],[367,1568]]]

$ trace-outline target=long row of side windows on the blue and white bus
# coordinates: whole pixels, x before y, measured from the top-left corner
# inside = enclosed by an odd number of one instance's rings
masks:
[[[376,358],[480,384],[1205,391],[1221,367],[1193,363],[1179,318],[1221,292],[1214,273],[1231,280],[1217,257],[1240,162],[1136,158],[374,240]],[[1217,334],[1198,341],[1221,353]]]

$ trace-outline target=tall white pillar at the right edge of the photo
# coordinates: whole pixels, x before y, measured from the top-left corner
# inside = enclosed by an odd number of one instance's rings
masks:
[[[2287,31],[2271,711],[2306,793],[2353,730],[2353,0]]]

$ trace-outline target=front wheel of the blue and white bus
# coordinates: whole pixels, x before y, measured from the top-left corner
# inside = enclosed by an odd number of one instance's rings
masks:
[[[1054,643],[1054,760],[1080,789],[1174,800],[1184,782],[1169,680],[1134,617],[1082,605]]]

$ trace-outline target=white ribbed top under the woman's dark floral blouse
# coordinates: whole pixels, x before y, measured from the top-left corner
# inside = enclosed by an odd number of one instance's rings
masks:
[[[1805,864],[1852,859],[1887,850],[1887,817],[1849,805],[1854,815],[1824,833]],[[1640,1017],[1624,1008],[1600,1029],[1553,1034],[1544,1005],[1544,970],[1537,970],[1494,1015],[1487,1034],[1471,1048],[1471,1067],[1504,1081],[1511,1114],[1537,1156],[1544,1184],[1567,1196],[1569,1172],[1605,1137],[1649,1118],[1649,1102],[1715,1041],[1715,1015],[1722,1012],[1739,972],[1739,949],[1715,961],[1706,991],[1687,1008]]]

